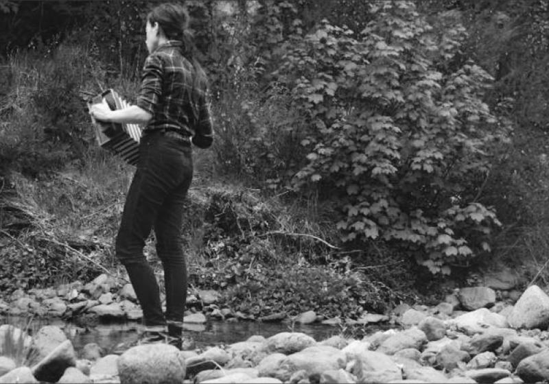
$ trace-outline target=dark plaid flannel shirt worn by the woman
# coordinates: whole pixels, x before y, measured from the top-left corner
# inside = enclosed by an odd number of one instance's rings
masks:
[[[207,83],[194,84],[195,70],[181,55],[182,44],[170,40],[147,57],[135,105],[152,115],[145,130],[181,130],[211,141]]]

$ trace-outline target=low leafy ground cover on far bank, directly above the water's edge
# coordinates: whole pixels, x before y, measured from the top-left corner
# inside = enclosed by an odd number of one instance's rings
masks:
[[[255,317],[312,310],[329,317],[357,318],[364,310],[382,313],[404,299],[362,272],[340,274],[329,266],[306,263],[286,271],[257,264],[225,297],[230,307]]]

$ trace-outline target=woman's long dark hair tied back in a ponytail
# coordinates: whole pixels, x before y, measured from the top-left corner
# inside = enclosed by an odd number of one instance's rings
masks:
[[[147,21],[151,25],[159,23],[159,27],[168,40],[183,42],[181,54],[192,63],[195,71],[193,88],[198,88],[199,84],[207,86],[206,73],[196,58],[198,49],[194,45],[194,38],[189,30],[189,12],[187,12],[187,9],[183,5],[175,3],[157,5],[147,14]],[[192,99],[196,102],[194,97]]]

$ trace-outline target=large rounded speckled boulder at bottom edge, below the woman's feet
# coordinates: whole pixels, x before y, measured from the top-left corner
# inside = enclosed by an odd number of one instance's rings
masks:
[[[132,347],[117,361],[121,383],[176,384],[185,379],[185,359],[168,344]]]

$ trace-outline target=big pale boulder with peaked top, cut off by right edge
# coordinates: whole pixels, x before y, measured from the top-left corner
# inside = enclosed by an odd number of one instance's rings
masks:
[[[531,285],[515,303],[507,321],[513,328],[547,328],[549,296],[537,285]]]

